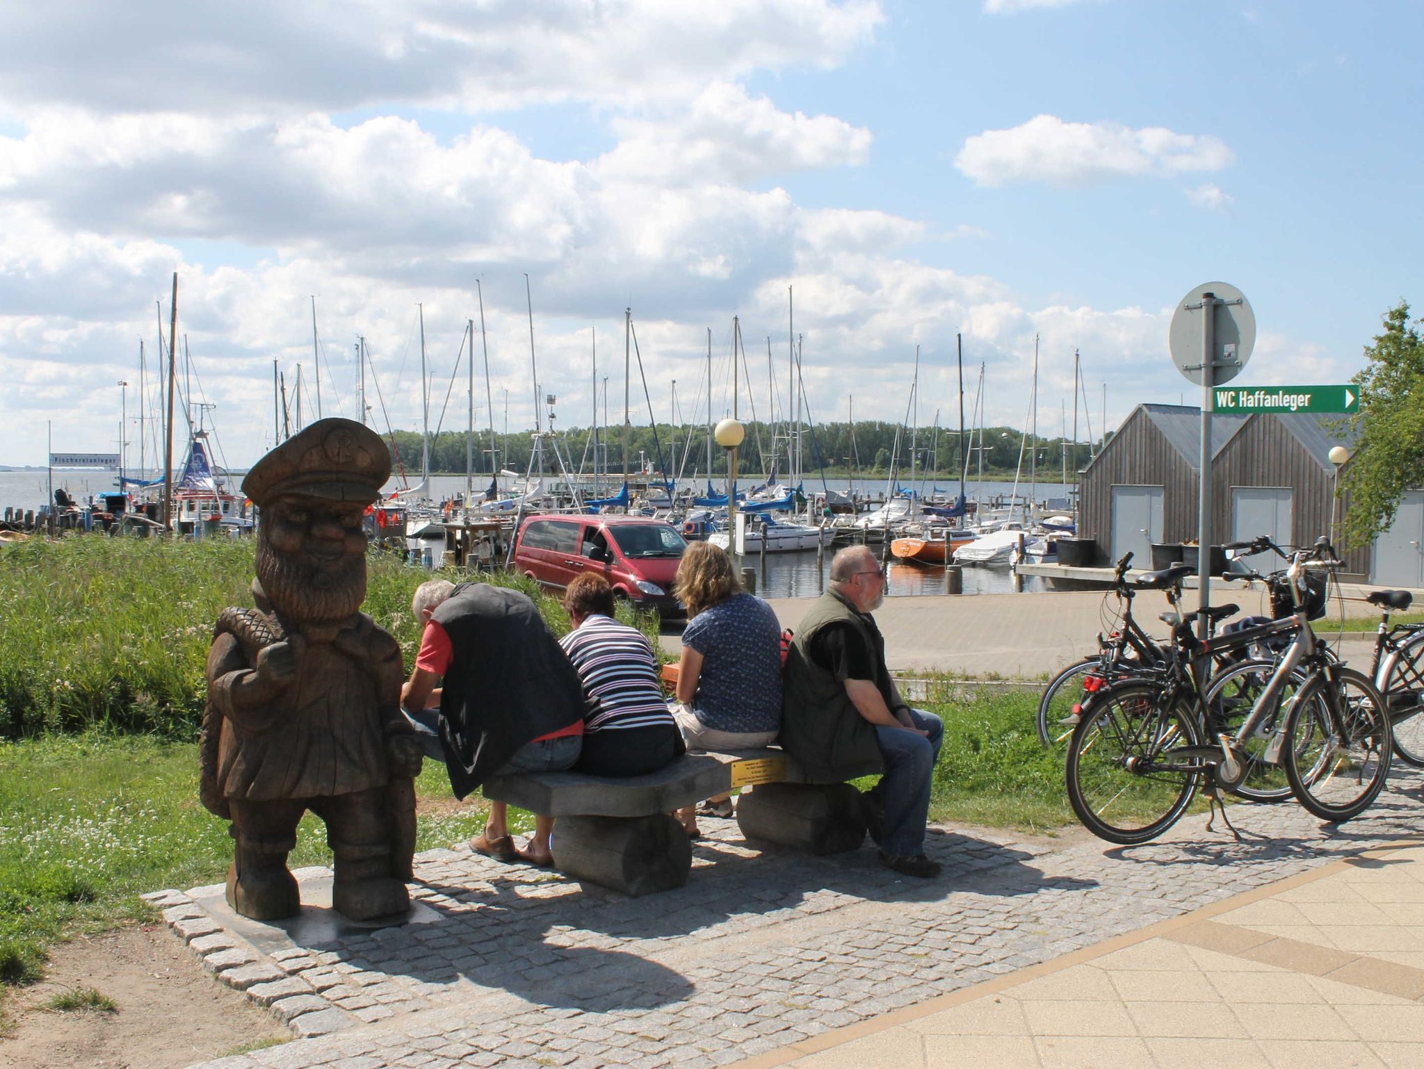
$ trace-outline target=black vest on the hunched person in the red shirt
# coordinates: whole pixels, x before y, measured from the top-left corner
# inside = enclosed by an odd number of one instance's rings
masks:
[[[587,707],[578,672],[524,594],[460,584],[431,615],[453,656],[440,693],[440,742],[457,799],[524,743],[568,727]]]

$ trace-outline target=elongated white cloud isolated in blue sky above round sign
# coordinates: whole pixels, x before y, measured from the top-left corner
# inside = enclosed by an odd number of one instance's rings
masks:
[[[1035,115],[1022,125],[968,138],[954,165],[977,185],[1087,185],[1135,175],[1220,171],[1232,159],[1232,151],[1210,135]]]

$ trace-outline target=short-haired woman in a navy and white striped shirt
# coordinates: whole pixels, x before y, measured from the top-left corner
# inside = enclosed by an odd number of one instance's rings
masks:
[[[658,683],[658,662],[646,636],[614,619],[608,581],[585,572],[568,584],[564,608],[574,623],[560,645],[588,699],[578,772],[642,776],[686,747]]]

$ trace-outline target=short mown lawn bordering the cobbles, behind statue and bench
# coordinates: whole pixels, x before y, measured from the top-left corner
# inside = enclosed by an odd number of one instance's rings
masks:
[[[946,717],[931,816],[1045,831],[1072,821],[1062,769],[1034,734],[1034,696],[930,702]],[[84,931],[145,918],[144,891],[221,883],[226,823],[198,804],[192,743],[101,733],[0,742],[0,982],[38,979],[47,948]],[[484,804],[457,804],[444,769],[426,762],[417,848],[461,843]],[[511,810],[515,830],[533,820]],[[292,865],[329,864],[325,831],[302,821]]]

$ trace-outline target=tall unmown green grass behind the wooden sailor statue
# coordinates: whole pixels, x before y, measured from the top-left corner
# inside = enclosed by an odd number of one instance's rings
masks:
[[[253,555],[251,539],[226,538],[73,535],[0,548],[0,736],[103,727],[195,739],[212,623],[225,606],[252,604]],[[410,665],[420,642],[410,596],[430,572],[373,552],[367,574],[363,608]],[[568,631],[558,601],[528,579],[483,578],[523,589],[555,635]],[[642,626],[656,635],[654,622]]]

